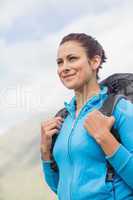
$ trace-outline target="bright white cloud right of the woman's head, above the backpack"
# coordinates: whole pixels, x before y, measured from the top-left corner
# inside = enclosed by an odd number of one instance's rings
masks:
[[[108,57],[101,77],[115,72],[132,72],[133,25],[132,1],[123,3],[107,12],[85,15],[60,32],[85,32],[98,39]],[[123,15],[124,13],[124,15]]]

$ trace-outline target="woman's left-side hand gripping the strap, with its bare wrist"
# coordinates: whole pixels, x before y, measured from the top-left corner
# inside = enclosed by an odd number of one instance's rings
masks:
[[[64,121],[61,117],[54,117],[50,120],[45,121],[41,125],[41,142],[40,142],[40,151],[41,158],[44,160],[50,160],[51,158],[51,144],[52,136],[57,134],[61,128],[62,122]]]

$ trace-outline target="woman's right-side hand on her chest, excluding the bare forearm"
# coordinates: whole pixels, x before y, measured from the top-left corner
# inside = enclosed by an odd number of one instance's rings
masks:
[[[106,139],[114,122],[113,116],[107,117],[100,111],[94,110],[86,118],[84,127],[98,143],[101,143]]]

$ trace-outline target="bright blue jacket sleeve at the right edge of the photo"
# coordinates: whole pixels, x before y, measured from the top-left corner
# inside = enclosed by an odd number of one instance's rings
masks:
[[[133,189],[133,104],[121,99],[113,115],[116,119],[114,127],[120,134],[121,144],[111,156],[106,156],[106,159]]]

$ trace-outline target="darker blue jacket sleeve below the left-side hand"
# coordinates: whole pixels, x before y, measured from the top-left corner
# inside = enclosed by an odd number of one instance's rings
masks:
[[[53,169],[51,169],[50,160],[48,161],[41,160],[41,163],[42,163],[42,171],[43,171],[44,179],[46,180],[51,190],[57,194],[59,172],[55,172]]]

